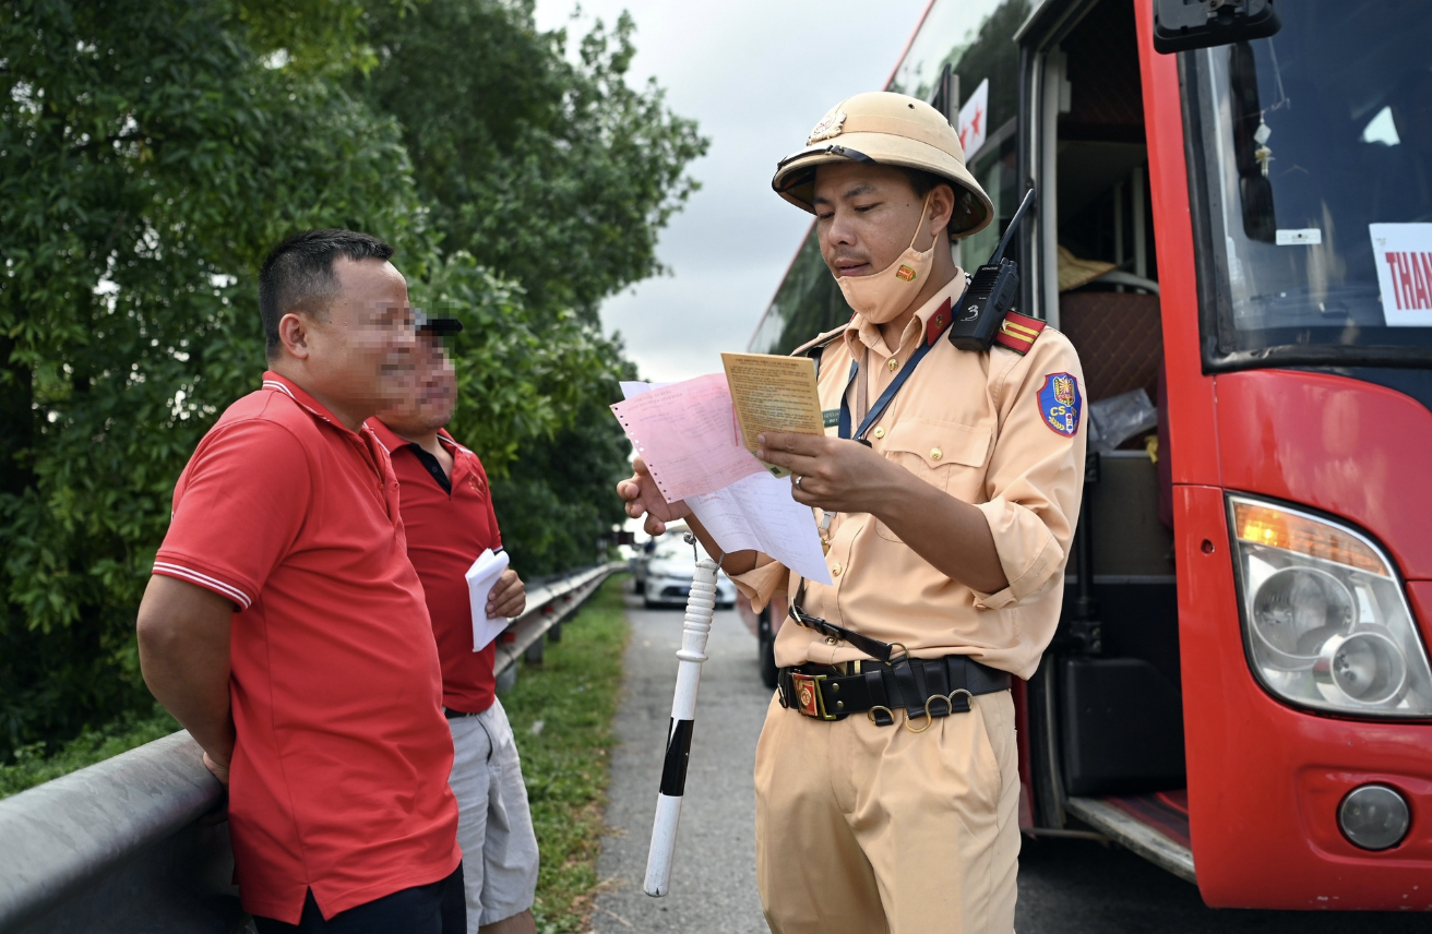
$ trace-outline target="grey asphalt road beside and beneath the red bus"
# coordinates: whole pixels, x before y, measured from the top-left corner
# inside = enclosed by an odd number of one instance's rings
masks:
[[[630,584],[629,584],[630,586]],[[611,761],[607,824],[593,913],[600,934],[683,931],[765,934],[755,871],[756,738],[770,692],[756,670],[756,640],[735,612],[717,612],[702,666],[702,690],[676,842],[672,891],[642,891],[672,690],[680,610],[643,610],[627,594],[632,643],[621,741]],[[1428,915],[1214,911],[1189,882],[1116,845],[1083,839],[1024,841],[1021,934],[1402,934],[1432,931]]]

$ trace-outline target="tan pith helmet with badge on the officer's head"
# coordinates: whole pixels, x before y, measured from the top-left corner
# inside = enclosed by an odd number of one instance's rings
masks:
[[[831,107],[811,130],[806,148],[780,160],[770,188],[815,213],[815,168],[852,159],[921,169],[949,182],[955,189],[951,236],[977,234],[994,218],[990,195],[965,168],[965,150],[949,120],[924,100],[884,90]]]

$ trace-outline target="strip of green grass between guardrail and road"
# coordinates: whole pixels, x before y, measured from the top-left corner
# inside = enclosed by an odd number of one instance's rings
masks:
[[[589,927],[626,640],[621,577],[613,577],[503,695],[541,854],[533,908],[541,934]],[[533,733],[537,721],[541,733]]]

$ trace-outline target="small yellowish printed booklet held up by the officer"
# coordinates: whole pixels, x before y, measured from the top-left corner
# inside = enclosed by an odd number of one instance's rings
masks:
[[[752,454],[763,431],[825,434],[821,395],[815,387],[815,361],[809,357],[775,354],[722,354],[730,404],[736,411],[740,441]],[[765,464],[775,477],[790,471]]]

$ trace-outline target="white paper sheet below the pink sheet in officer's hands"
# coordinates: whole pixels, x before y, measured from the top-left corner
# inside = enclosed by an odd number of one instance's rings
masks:
[[[629,400],[650,390],[646,382],[621,384]],[[729,411],[729,394],[726,407]],[[692,513],[723,552],[755,549],[816,583],[831,583],[815,513],[792,499],[789,477],[772,477],[749,451],[739,450],[750,457],[756,471],[710,493],[684,497]]]

